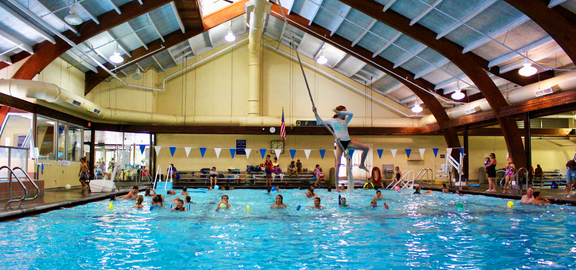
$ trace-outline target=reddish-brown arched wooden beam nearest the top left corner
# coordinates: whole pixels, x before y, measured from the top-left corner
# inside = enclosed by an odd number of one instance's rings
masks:
[[[100,24],[94,21],[86,21],[78,26],[81,29],[81,35],[77,36],[70,30],[63,32],[63,35],[68,36],[75,44],[82,43],[90,37],[96,36],[104,31],[112,29],[115,26],[130,21],[133,18],[146,14],[158,7],[164,6],[172,0],[142,0],[142,5],[138,1],[130,1],[119,7],[122,14],[118,14],[116,10],[111,10],[98,16]],[[26,60],[24,64],[12,76],[13,79],[32,79],[36,74],[40,73],[48,64],[52,63],[60,55],[70,50],[72,46],[66,41],[56,38],[56,44],[45,40],[36,46],[37,50],[34,54]]]

